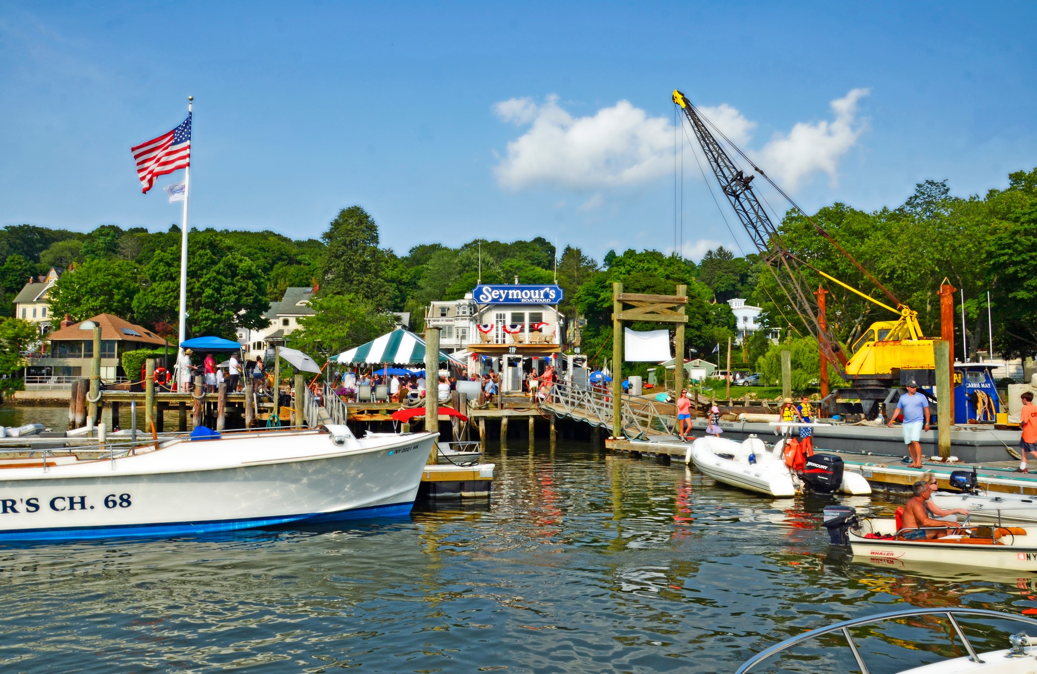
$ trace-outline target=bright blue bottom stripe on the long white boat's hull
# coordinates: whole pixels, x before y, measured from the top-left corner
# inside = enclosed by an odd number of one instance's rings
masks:
[[[108,525],[103,527],[61,527],[53,529],[19,529],[0,531],[0,540],[84,540],[97,538],[129,538],[140,536],[181,536],[205,534],[240,529],[275,527],[286,524],[312,524],[339,522],[342,519],[363,519],[367,517],[396,517],[411,513],[414,502],[393,503],[340,510],[338,512],[311,512],[277,517],[248,517],[245,519],[213,519],[208,522],[168,522],[147,525]]]

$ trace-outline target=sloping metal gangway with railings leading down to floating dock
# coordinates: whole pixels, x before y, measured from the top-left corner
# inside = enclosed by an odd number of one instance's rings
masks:
[[[612,430],[612,391],[594,386],[567,382],[555,384],[551,392],[539,399],[540,409],[556,417],[568,417],[592,426]],[[623,433],[634,440],[674,431],[674,405],[671,402],[623,394],[620,401]]]

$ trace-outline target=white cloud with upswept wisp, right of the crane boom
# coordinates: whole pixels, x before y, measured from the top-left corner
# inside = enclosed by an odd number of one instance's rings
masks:
[[[831,104],[835,120],[816,123],[800,122],[787,136],[776,134],[759,152],[752,156],[767,174],[787,190],[803,187],[813,173],[823,171],[829,185],[839,184],[839,160],[857,143],[865,124],[858,123],[857,102],[868,95],[868,89],[853,89]]]

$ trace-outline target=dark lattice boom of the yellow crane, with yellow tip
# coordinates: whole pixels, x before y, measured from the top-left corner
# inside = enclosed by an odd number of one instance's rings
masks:
[[[800,261],[785,248],[777,228],[753,190],[751,184],[756,176],[746,175],[737,167],[683,93],[674,89],[673,102],[684,112],[695,137],[702,146],[709,168],[720,182],[721,190],[738,215],[749,237],[753,240],[753,245],[766,262],[767,269],[774,274],[775,280],[778,281],[778,285],[804,325],[816,335],[821,353],[839,370],[840,375],[845,377],[846,354],[839,341],[829,332],[828,327],[818,320],[817,301],[800,270]]]

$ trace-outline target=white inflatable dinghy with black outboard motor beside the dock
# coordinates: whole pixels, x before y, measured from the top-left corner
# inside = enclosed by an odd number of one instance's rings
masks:
[[[785,442],[780,440],[768,450],[755,436],[740,443],[699,438],[688,448],[685,461],[694,461],[696,470],[718,482],[776,498],[805,488],[819,494],[871,494],[868,480],[860,473],[843,471],[842,458],[833,454],[814,454],[806,458],[803,471],[790,471],[785,465]]]

